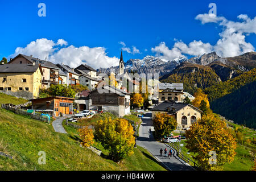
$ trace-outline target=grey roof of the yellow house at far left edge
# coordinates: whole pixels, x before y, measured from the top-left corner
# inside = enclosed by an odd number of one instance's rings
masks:
[[[36,72],[38,68],[43,75],[40,64],[0,64],[0,73],[30,73]]]

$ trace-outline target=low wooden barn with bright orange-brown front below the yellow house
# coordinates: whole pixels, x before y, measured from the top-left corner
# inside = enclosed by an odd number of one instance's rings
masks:
[[[69,114],[73,111],[74,100],[75,98],[55,96],[37,98],[31,100],[31,102],[33,110],[49,113],[53,117],[59,117],[60,113]]]

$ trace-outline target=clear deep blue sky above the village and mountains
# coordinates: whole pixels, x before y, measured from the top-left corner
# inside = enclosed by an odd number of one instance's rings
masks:
[[[46,17],[38,16],[38,4],[40,2],[46,4]],[[194,40],[203,42],[205,46],[208,43],[207,48],[204,46],[204,50],[206,49],[208,52],[218,50],[220,54],[225,56],[227,53],[221,52],[220,47],[214,47],[221,39],[219,34],[225,31],[225,26],[221,26],[220,22],[203,24],[202,19],[195,19],[199,14],[207,14],[210,10],[208,5],[212,2],[217,5],[217,16],[225,17],[228,21],[241,22],[242,20],[237,18],[241,14],[246,14],[247,19],[250,18],[251,20],[256,16],[256,1],[251,0],[1,1],[0,57],[15,56],[17,53],[30,53],[28,49],[21,49],[16,52],[15,49],[17,47],[26,48],[31,42],[43,38],[55,43],[59,39],[64,39],[68,43],[63,46],[53,46],[55,53],[61,48],[67,48],[71,45],[73,49],[83,46],[89,47],[87,50],[89,52],[90,48],[105,48],[101,50],[101,53],[105,53],[106,59],[114,57],[113,60],[109,60],[110,62],[117,60],[122,48],[123,50],[130,48],[130,53],[123,51],[125,61],[142,59],[146,55],[158,55],[163,59],[170,60],[175,57],[172,56],[174,52],[170,52],[171,50],[175,51],[173,49],[175,43],[183,43],[177,46],[182,49],[180,47],[188,46]],[[246,18],[243,20],[245,22]],[[244,44],[246,44],[247,49],[254,51],[254,47],[256,47],[255,32],[248,33],[247,30],[242,30],[241,34],[245,35]],[[121,42],[125,43],[126,46],[122,46]],[[251,45],[247,45],[247,43]],[[137,49],[137,53],[133,53],[133,46]],[[83,51],[85,50],[83,49]],[[196,54],[195,51],[197,50],[191,47],[191,49],[182,49],[179,53],[190,57]],[[35,54],[35,50],[31,52]],[[49,58],[52,58],[53,62],[64,59],[60,55],[50,57],[53,52],[49,52]],[[92,50],[90,53],[93,55],[92,52],[97,55],[97,51]],[[243,50],[233,50],[233,52],[232,55],[236,55]],[[38,56],[41,55],[39,53]],[[42,56],[45,56],[45,52]],[[91,59],[91,56],[85,56],[88,59],[86,61],[90,65],[95,65],[93,61],[97,60]],[[40,58],[44,59],[44,57]],[[99,61],[98,64],[101,62]]]

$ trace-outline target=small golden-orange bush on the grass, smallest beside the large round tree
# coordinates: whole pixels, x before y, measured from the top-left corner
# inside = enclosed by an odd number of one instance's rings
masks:
[[[82,129],[79,129],[79,135],[82,140],[82,142],[81,142],[82,146],[89,147],[90,145],[92,145],[94,143],[93,130],[89,129],[88,126],[82,128]]]

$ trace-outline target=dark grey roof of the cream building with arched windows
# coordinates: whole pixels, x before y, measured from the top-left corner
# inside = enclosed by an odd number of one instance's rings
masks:
[[[197,107],[191,104],[176,103],[174,100],[164,101],[161,104],[155,106],[152,111],[166,111],[168,114],[175,114],[177,111],[183,109],[185,106],[191,106],[193,109],[202,113]]]

